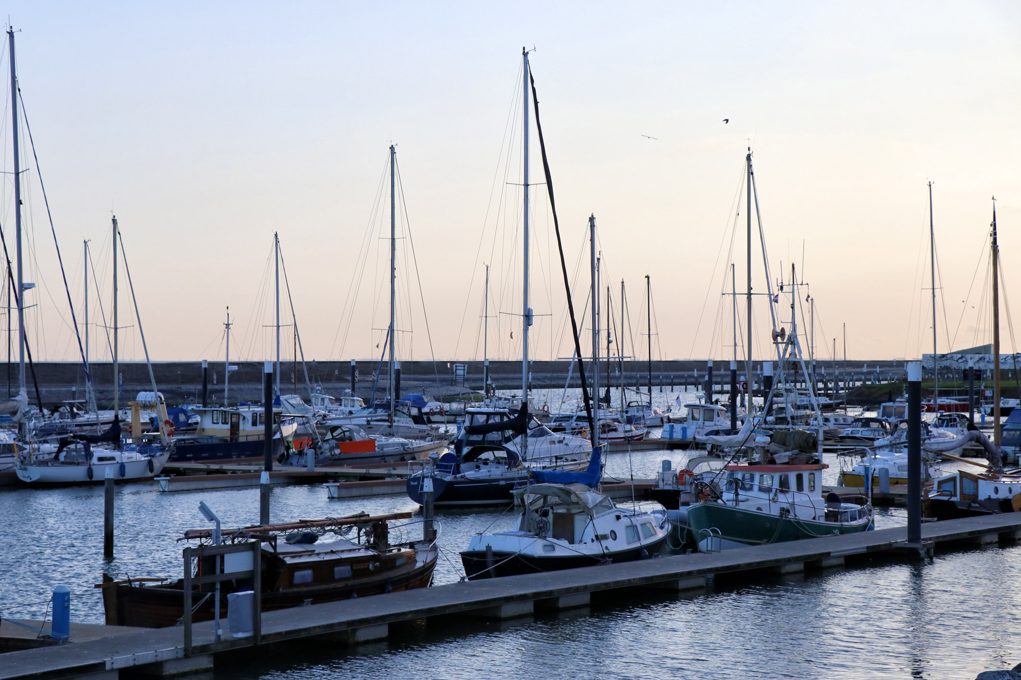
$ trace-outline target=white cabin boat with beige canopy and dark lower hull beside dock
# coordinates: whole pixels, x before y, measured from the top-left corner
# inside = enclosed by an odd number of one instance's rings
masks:
[[[670,533],[659,503],[615,506],[581,483],[534,484],[514,495],[521,506],[517,528],[476,534],[460,553],[470,581],[644,560]]]

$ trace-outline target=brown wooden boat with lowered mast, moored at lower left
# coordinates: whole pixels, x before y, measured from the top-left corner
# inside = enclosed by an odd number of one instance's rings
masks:
[[[410,517],[410,513],[352,515],[227,529],[222,536],[230,542],[262,542],[261,603],[263,612],[271,612],[428,587],[439,554],[435,541],[390,540],[394,528],[388,523]],[[186,531],[182,540],[203,542],[211,538],[210,530],[199,529]],[[214,569],[213,557],[203,558],[197,576]],[[184,580],[162,581],[167,579],[113,580],[104,574],[103,582],[95,587],[103,591],[106,625],[177,625],[184,616]],[[226,609],[229,593],[251,587],[250,578],[225,581],[220,591],[221,612]],[[211,584],[200,588],[192,619],[209,621],[215,605],[214,589]]]

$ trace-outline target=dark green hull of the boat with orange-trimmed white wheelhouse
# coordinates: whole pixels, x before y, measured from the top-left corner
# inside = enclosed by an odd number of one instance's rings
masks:
[[[839,524],[782,518],[776,515],[758,513],[740,507],[715,502],[700,502],[688,507],[688,527],[696,542],[708,538],[710,532],[727,542],[744,545],[764,545],[794,541],[803,538],[818,538],[835,534],[853,534],[867,531],[871,520]]]

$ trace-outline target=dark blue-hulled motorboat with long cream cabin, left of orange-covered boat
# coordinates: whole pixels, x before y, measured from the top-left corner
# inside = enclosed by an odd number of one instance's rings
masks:
[[[199,425],[194,434],[175,435],[171,462],[205,462],[228,458],[255,458],[264,455],[265,409],[261,405],[195,406]],[[273,455],[284,451],[284,440],[297,430],[292,418],[284,418],[281,407],[273,408]]]

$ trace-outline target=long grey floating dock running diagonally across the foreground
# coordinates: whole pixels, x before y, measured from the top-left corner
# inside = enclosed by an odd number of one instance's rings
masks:
[[[634,588],[695,589],[703,587],[710,577],[836,568],[877,555],[920,560],[932,554],[935,543],[1015,541],[1021,538],[1021,513],[924,524],[921,546],[907,545],[906,538],[907,528],[897,527],[311,604],[263,614],[261,639],[263,643],[279,643],[321,638],[355,644],[386,638],[391,624],[416,619],[444,615],[506,619],[542,609],[583,606],[593,595],[607,591],[616,591],[614,596],[620,597]],[[188,658],[179,627],[13,651],[3,655],[0,680],[116,678],[120,669],[169,675],[211,668],[217,652],[252,645],[251,638],[233,639],[229,633],[217,642],[212,632],[211,622],[195,625],[195,646]]]

